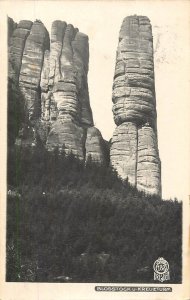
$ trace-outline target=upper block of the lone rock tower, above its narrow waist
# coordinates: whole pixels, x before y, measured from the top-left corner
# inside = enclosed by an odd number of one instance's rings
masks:
[[[143,124],[156,118],[153,42],[147,17],[124,19],[119,35],[113,84],[113,113],[117,125]]]

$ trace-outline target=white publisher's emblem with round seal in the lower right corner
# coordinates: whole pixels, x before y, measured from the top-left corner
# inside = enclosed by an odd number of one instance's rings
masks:
[[[163,257],[159,257],[153,264],[154,280],[161,282],[170,280],[169,263]]]

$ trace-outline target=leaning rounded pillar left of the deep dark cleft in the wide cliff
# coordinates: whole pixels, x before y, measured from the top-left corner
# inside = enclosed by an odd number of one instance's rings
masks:
[[[40,21],[35,21],[26,39],[19,76],[19,86],[25,98],[29,119],[38,118],[40,115],[40,75],[44,51],[47,48],[48,32]]]

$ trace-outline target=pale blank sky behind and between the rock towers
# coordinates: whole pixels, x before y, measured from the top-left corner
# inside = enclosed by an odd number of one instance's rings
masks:
[[[109,140],[115,129],[112,84],[122,20],[146,15],[153,30],[158,146],[163,198],[190,194],[190,3],[189,1],[8,1],[14,21],[40,19],[73,24],[89,36],[89,94],[95,126]]]

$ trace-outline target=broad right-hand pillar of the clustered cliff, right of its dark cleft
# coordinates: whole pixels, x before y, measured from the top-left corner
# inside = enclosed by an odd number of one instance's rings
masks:
[[[85,159],[86,128],[93,126],[89,103],[88,37],[71,24],[52,24],[50,52],[46,51],[41,74],[42,119],[52,128],[47,147],[55,145]]]

